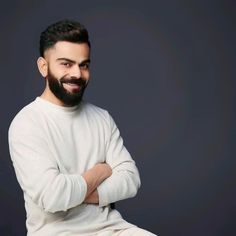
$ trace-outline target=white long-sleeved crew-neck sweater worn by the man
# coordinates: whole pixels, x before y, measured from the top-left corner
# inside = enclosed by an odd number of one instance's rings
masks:
[[[9,147],[24,192],[28,236],[94,235],[134,226],[109,205],[135,196],[140,178],[107,111],[37,97],[12,121]],[[98,187],[99,205],[84,204],[82,174],[100,162],[111,166],[112,175]]]

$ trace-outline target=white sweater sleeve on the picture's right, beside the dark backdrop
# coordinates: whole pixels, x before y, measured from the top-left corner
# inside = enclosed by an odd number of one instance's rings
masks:
[[[135,196],[141,184],[135,162],[123,145],[123,139],[111,116],[109,121],[110,139],[106,162],[113,173],[98,187],[100,206]]]

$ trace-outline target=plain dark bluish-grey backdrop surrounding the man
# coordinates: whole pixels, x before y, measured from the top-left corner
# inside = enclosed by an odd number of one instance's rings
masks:
[[[2,3],[3,4],[3,3]],[[0,235],[25,235],[7,131],[41,94],[38,39],[63,18],[92,41],[86,99],[110,111],[141,174],[128,221],[161,236],[236,235],[235,1],[5,1],[0,10]]]

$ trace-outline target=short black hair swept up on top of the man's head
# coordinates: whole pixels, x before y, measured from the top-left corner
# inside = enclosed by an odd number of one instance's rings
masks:
[[[40,56],[43,57],[45,51],[59,41],[87,43],[90,47],[88,31],[82,24],[74,20],[62,20],[49,25],[41,33],[39,42]]]

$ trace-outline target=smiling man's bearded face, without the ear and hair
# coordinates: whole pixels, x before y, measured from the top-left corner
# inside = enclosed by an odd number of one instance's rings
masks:
[[[64,41],[46,51],[48,89],[61,105],[80,103],[89,81],[89,51],[86,43]]]

